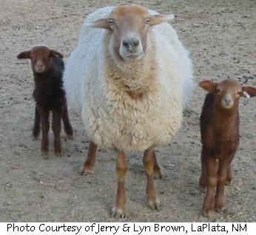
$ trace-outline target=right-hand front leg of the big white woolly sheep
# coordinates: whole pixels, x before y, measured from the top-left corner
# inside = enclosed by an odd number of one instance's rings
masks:
[[[158,200],[157,191],[154,185],[154,166],[155,166],[155,152],[154,149],[147,149],[144,152],[143,163],[146,168],[146,195],[149,207],[159,210],[160,201]]]

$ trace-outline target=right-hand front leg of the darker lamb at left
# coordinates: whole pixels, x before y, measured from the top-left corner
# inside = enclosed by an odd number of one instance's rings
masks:
[[[54,134],[54,151],[55,155],[61,155],[62,147],[61,147],[61,110],[54,109],[53,110],[53,123],[52,129]]]

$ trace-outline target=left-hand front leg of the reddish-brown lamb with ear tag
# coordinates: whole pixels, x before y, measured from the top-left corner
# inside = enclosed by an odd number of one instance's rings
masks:
[[[203,201],[203,215],[210,217],[215,207],[215,187],[218,182],[217,174],[217,160],[214,156],[207,156],[206,168],[207,168],[207,185],[206,185],[206,197]]]

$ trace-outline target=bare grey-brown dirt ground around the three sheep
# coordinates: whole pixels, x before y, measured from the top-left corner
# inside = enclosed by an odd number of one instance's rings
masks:
[[[226,188],[224,214],[201,216],[203,194],[199,116],[205,92],[196,87],[183,128],[168,146],[158,149],[164,180],[155,180],[161,210],[146,206],[142,153],[129,154],[127,218],[110,217],[117,178],[115,152],[101,149],[95,174],[80,176],[88,138],[80,117],[70,112],[75,140],[62,132],[64,154],[40,154],[31,137],[34,103],[29,61],[16,55],[36,44],[64,53],[75,48],[88,13],[123,1],[0,0],[0,222],[255,222],[256,221],[256,100],[240,103],[240,147],[233,162],[235,182]],[[129,1],[131,2],[131,1]],[[238,79],[256,86],[256,2],[137,1],[161,13],[175,13],[173,23],[191,52],[195,82],[206,78]],[[50,132],[50,143],[53,134]]]

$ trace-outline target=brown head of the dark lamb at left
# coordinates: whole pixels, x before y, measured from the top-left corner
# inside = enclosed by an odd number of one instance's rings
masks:
[[[53,58],[63,58],[63,55],[55,50],[50,50],[48,47],[36,46],[32,50],[21,52],[17,58],[30,59],[33,72],[44,73],[49,71]]]

